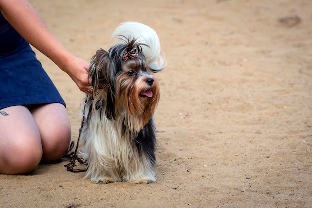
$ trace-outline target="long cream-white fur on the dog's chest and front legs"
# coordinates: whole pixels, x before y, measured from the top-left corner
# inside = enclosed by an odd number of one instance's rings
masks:
[[[88,129],[82,137],[86,140],[84,158],[88,160],[88,170],[85,177],[94,182],[150,183],[156,181],[154,168],[150,159],[135,147],[135,136],[130,132],[123,135],[121,119],[100,119],[93,115]],[[90,121],[89,121],[90,122]]]

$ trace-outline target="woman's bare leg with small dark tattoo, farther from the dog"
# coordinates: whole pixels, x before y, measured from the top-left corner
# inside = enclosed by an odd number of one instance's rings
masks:
[[[0,111],[0,173],[31,171],[42,157],[36,121],[24,106],[11,106]]]

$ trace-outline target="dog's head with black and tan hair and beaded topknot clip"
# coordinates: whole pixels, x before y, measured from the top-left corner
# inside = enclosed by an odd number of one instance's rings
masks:
[[[151,119],[160,98],[159,84],[135,39],[98,50],[91,60],[95,108],[106,108],[106,116],[120,113]]]

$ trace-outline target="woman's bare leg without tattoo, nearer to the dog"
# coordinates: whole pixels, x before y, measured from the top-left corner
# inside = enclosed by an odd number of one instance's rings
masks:
[[[67,152],[71,128],[67,111],[60,103],[37,105],[30,108],[37,123],[43,148],[43,161],[52,161]]]

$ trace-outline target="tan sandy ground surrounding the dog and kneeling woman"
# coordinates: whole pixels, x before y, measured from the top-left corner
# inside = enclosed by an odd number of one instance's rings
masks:
[[[311,208],[312,1],[30,0],[74,54],[112,46],[124,21],[156,30],[157,181],[95,184],[64,164],[0,175],[3,208]],[[72,140],[84,95],[37,57],[67,102]]]

